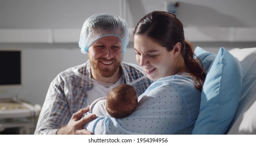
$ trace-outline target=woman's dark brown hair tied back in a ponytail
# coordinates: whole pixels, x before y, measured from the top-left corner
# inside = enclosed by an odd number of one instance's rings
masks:
[[[172,51],[174,45],[180,42],[181,55],[194,79],[194,85],[197,89],[202,89],[206,77],[203,65],[194,59],[193,46],[185,40],[183,25],[176,15],[166,11],[150,12],[138,22],[133,32],[134,35],[149,37],[159,45],[166,47],[167,51]]]

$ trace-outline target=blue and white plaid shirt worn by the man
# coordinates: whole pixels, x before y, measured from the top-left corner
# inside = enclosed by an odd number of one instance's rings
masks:
[[[133,86],[140,96],[152,83],[140,68],[133,64],[121,63],[123,82]],[[68,124],[72,114],[87,106],[87,91],[93,88],[90,63],[69,68],[61,72],[49,86],[42,107],[35,134],[56,134],[57,130]],[[106,92],[107,93],[107,92]]]

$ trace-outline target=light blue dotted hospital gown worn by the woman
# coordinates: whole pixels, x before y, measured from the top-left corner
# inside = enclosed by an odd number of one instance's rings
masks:
[[[98,116],[84,128],[93,134],[191,134],[200,94],[190,76],[161,78],[139,96],[139,106],[128,117]]]

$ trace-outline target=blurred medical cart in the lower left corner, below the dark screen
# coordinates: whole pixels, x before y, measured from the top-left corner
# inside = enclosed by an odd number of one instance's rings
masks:
[[[0,98],[0,134],[34,134],[40,105]]]

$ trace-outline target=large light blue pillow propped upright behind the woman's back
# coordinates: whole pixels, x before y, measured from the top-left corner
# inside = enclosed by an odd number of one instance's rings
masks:
[[[206,75],[192,134],[225,134],[238,106],[241,82],[240,62],[220,48]]]

